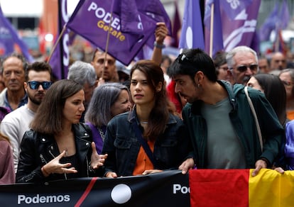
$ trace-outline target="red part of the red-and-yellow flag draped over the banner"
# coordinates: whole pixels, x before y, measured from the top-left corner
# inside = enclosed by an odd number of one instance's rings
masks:
[[[249,169],[189,171],[191,206],[249,206]]]

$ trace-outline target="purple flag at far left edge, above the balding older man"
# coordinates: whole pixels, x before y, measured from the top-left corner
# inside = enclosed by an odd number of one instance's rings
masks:
[[[18,45],[23,56],[26,57],[28,62],[34,62],[33,57],[28,51],[26,44],[19,38],[18,33],[9,20],[5,18],[0,7],[0,53],[1,55],[9,55],[14,51],[14,46]]]

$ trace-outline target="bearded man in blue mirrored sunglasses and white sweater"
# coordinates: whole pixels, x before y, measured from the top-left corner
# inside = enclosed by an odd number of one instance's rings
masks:
[[[32,65],[28,65],[24,82],[28,104],[7,114],[1,122],[1,132],[11,139],[15,171],[17,170],[23,134],[26,130],[29,130],[29,124],[33,120],[46,91],[52,84],[51,71],[50,65],[45,62],[34,62]]]

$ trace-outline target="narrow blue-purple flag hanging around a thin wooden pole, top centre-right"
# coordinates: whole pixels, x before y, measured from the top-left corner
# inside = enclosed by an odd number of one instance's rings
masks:
[[[214,13],[213,13],[213,35],[212,35],[212,54],[209,54],[210,51],[210,20],[211,20],[211,6],[214,4]],[[219,0],[209,0],[205,5],[205,51],[214,57],[214,55],[224,49],[224,44],[222,40],[222,18],[219,9]]]

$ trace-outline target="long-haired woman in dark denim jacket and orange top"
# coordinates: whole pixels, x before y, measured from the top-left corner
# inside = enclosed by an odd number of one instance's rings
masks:
[[[163,71],[151,60],[131,69],[134,108],[111,119],[102,154],[106,177],[151,174],[178,169],[189,157],[190,139],[183,121],[168,101]]]

